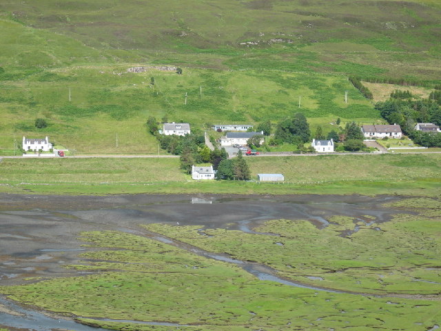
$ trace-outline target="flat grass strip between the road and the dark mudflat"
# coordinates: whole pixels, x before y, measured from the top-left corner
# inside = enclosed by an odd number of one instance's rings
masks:
[[[3,159],[1,192],[48,194],[263,193],[439,195],[441,154],[247,157],[252,178],[285,183],[193,181],[177,158]],[[381,165],[381,166],[378,166]]]

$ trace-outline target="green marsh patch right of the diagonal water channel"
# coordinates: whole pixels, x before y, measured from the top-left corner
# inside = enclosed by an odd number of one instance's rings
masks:
[[[332,217],[318,229],[309,221],[274,220],[244,233],[201,226],[144,225],[209,252],[264,263],[287,279],[324,288],[378,294],[440,294],[441,222],[396,214],[391,221]]]

